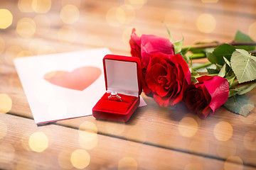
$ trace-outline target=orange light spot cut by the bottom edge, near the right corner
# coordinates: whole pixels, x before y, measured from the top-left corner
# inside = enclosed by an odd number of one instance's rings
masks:
[[[228,157],[228,159],[224,163],[225,170],[242,170],[242,167],[242,159],[240,159],[240,157],[237,156]]]

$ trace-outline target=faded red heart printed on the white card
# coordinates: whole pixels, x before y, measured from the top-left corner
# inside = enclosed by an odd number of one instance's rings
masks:
[[[57,86],[83,91],[96,81],[100,74],[101,70],[97,67],[80,67],[73,72],[48,72],[43,78]]]

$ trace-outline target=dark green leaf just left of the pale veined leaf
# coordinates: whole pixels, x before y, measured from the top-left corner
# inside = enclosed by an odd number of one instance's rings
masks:
[[[210,57],[214,58],[214,63],[223,65],[225,64],[225,60],[223,59],[223,57],[230,61],[230,57],[234,51],[235,47],[233,47],[232,45],[223,44],[216,47]]]

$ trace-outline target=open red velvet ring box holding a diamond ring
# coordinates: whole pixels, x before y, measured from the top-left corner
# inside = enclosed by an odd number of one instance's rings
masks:
[[[106,55],[103,59],[106,92],[92,108],[98,119],[127,122],[139,106],[142,75],[137,57]],[[109,98],[111,92],[119,98]]]

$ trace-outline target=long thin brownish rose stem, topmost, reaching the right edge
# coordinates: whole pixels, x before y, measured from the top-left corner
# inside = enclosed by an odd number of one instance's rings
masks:
[[[226,42],[227,43],[227,42]],[[197,50],[197,49],[202,49],[202,48],[208,48],[208,47],[218,47],[219,45],[223,45],[223,43],[208,43],[208,44],[200,44],[200,45],[185,45],[181,48],[181,51],[186,51],[186,50]],[[229,45],[256,45],[256,42],[228,42],[227,44]]]

